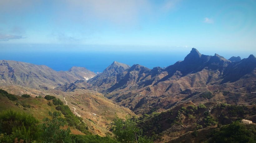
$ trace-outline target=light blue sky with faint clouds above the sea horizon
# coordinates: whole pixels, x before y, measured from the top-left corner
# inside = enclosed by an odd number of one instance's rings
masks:
[[[255,55],[255,9],[255,0],[1,0],[0,48]]]

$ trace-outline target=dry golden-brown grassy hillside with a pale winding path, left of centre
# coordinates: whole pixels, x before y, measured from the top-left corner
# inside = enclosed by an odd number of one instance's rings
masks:
[[[52,108],[55,109],[56,106],[48,106],[49,101],[45,99],[33,98],[36,96],[46,96],[51,95],[59,98],[64,105],[68,105],[71,112],[77,116],[81,116],[83,121],[87,124],[88,130],[93,134],[98,134],[100,136],[112,135],[109,131],[111,127],[111,122],[116,118],[125,118],[127,115],[134,116],[135,114],[127,108],[120,105],[116,105],[113,101],[105,98],[101,93],[93,92],[89,90],[77,90],[76,92],[62,92],[58,90],[48,90],[48,91],[38,91],[30,88],[22,88],[18,86],[3,87],[2,89],[8,91],[12,94],[17,94],[18,101],[1,101],[1,109],[12,109],[18,106],[15,105],[16,102],[24,101],[25,104],[30,104],[31,108],[27,108],[27,113],[35,115],[36,118],[41,119],[48,114],[48,110]],[[33,97],[22,98],[23,94],[28,94]],[[64,99],[65,97],[65,99]],[[8,104],[5,105],[4,102]],[[51,101],[52,102],[52,101]],[[9,107],[11,106],[11,107]],[[12,107],[14,106],[14,107]],[[32,107],[33,106],[33,107]],[[22,103],[19,104],[20,108],[17,110],[23,111]],[[42,112],[42,113],[41,113]],[[71,128],[72,131],[72,128]],[[72,131],[76,132],[76,130]]]

